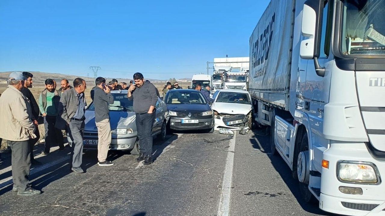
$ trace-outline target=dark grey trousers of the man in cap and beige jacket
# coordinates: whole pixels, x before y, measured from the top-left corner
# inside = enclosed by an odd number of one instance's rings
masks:
[[[12,179],[18,192],[25,192],[31,189],[28,184],[28,176],[31,167],[30,146],[27,141],[9,141],[8,145],[12,150]]]

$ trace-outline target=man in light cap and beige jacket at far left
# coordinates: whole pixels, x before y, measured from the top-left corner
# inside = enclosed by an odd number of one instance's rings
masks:
[[[39,195],[41,191],[28,184],[31,167],[31,151],[28,140],[36,138],[35,125],[32,122],[30,102],[21,90],[25,77],[22,72],[12,72],[8,78],[8,87],[0,97],[0,137],[8,141],[12,150],[13,189],[19,196]]]

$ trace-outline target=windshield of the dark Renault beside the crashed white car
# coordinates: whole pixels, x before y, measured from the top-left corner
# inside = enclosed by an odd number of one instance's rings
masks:
[[[174,91],[169,92],[166,98],[166,104],[206,104],[202,93],[199,91],[181,92]]]

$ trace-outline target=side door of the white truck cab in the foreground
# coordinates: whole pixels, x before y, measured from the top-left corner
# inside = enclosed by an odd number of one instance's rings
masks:
[[[321,33],[321,49],[318,62],[321,67],[325,67],[325,76],[316,74],[314,61],[308,60],[306,67],[306,82],[303,92],[304,104],[303,108],[309,116],[308,131],[310,142],[311,170],[321,173],[321,160],[323,152],[328,148],[328,141],[323,138],[323,110],[329,100],[331,63],[333,54],[330,51],[331,44],[331,28],[333,22],[333,1],[326,0],[323,10],[323,22]],[[314,160],[316,158],[316,160]]]

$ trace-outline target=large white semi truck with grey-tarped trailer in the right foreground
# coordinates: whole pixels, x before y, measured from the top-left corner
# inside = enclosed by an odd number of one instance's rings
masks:
[[[249,92],[305,201],[385,215],[385,0],[271,0]]]

